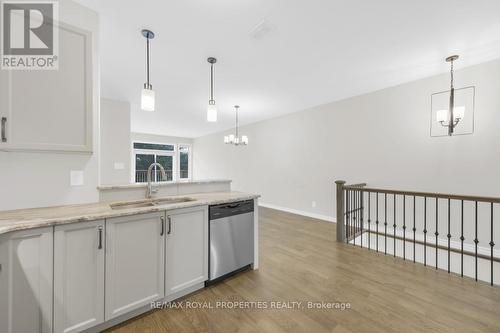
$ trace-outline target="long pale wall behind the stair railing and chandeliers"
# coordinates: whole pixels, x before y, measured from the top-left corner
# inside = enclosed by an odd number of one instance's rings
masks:
[[[469,85],[473,135],[430,137],[430,96],[448,88],[444,74],[245,126],[247,147],[225,145],[228,132],[195,139],[195,177],[232,179],[262,203],[325,218],[335,216],[337,179],[500,196],[500,61],[456,71],[455,86]]]

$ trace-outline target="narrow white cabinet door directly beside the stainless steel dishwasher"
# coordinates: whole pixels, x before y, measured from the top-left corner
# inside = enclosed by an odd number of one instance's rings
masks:
[[[166,294],[208,279],[208,207],[167,212]]]

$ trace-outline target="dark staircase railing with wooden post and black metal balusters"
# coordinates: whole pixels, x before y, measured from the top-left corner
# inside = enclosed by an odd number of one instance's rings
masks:
[[[500,284],[500,198],[335,183],[337,241]]]

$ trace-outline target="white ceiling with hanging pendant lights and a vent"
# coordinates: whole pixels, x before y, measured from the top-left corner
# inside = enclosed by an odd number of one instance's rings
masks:
[[[79,0],[101,16],[102,96],[132,103],[132,130],[198,137],[500,58],[498,0]],[[263,36],[251,32],[264,23]],[[139,110],[142,28],[157,111]],[[207,123],[208,56],[219,121]]]

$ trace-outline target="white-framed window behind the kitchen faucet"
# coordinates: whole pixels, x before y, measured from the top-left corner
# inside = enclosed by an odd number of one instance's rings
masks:
[[[191,179],[191,146],[187,144],[173,145],[152,142],[134,142],[134,174],[132,181],[145,183],[148,178],[148,168],[152,163],[159,163],[165,169],[166,178],[162,177],[161,170],[154,167],[151,180],[155,182],[172,182]],[[177,171],[178,170],[178,171]]]

